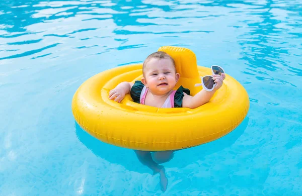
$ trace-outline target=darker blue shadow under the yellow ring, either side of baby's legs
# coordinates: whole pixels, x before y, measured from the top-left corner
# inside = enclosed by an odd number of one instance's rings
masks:
[[[192,164],[192,162],[203,159],[203,157],[206,155],[230,147],[244,133],[244,131],[247,129],[248,123],[249,118],[247,117],[234,131],[218,140],[194,148],[177,151],[174,159],[172,159],[173,166],[185,167]],[[101,142],[89,135],[76,122],[74,123],[74,127],[75,134],[77,135],[79,141],[82,142],[95,155],[107,160],[110,163],[123,165],[127,170],[146,172],[146,169],[142,168],[143,166],[138,162],[138,160],[135,161],[136,156],[132,150]],[[186,158],[187,156],[190,158]],[[121,159],[120,157],[127,157],[127,159]]]

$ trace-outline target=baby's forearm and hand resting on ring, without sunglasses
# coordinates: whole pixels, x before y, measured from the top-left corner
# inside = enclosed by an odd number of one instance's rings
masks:
[[[131,82],[121,82],[119,83],[115,88],[110,90],[109,92],[109,99],[120,103],[124,97],[125,94],[128,94],[133,86],[133,83]]]

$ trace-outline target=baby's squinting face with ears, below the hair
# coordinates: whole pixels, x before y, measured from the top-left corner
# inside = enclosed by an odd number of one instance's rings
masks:
[[[171,59],[150,59],[144,67],[141,80],[156,95],[164,95],[174,88],[179,79]]]

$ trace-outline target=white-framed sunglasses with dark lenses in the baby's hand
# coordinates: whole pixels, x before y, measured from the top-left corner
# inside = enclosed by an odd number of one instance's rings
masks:
[[[211,66],[212,74],[221,75],[224,73],[224,70],[222,67],[218,65],[212,65]],[[205,75],[201,78],[201,84],[195,84],[195,86],[202,86],[204,90],[206,91],[212,91],[214,87],[216,86],[216,83],[213,80],[213,76],[211,75]]]

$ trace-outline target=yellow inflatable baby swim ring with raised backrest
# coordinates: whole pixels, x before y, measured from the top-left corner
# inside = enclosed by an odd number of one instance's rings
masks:
[[[187,48],[164,46],[174,58],[183,85],[196,94],[200,76],[210,68],[197,66],[195,54]],[[207,104],[196,108],[155,108],[132,102],[129,94],[119,104],[108,99],[109,91],[122,81],[142,77],[142,64],[116,67],[85,81],[72,99],[75,121],[103,142],[137,150],[175,150],[218,139],[234,130],[249,110],[244,87],[226,74],[222,87]]]

